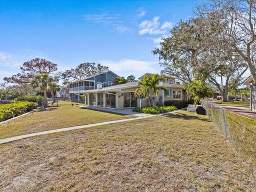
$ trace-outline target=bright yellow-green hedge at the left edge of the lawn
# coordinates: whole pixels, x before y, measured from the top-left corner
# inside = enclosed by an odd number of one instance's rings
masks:
[[[0,122],[27,113],[36,107],[38,107],[37,103],[29,101],[0,105]]]

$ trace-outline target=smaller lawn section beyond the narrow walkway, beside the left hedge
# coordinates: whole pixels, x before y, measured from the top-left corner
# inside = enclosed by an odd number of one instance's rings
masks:
[[[74,106],[71,106],[68,101],[60,101],[59,107],[49,107],[47,110],[38,111],[2,124],[0,125],[0,139],[63,127],[135,117],[83,109],[79,108],[78,105],[80,104],[75,103]]]

